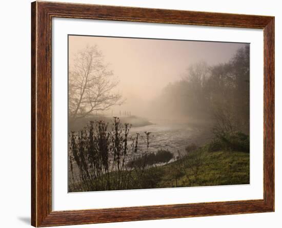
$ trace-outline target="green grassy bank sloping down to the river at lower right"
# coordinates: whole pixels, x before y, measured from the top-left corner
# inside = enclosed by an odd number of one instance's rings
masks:
[[[132,185],[126,189],[248,184],[249,155],[239,151],[196,150],[177,161],[151,167],[143,175],[132,172]]]

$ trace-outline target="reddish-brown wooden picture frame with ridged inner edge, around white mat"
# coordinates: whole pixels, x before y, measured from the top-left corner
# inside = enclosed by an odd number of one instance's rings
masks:
[[[31,4],[31,224],[54,226],[274,211],[274,17],[88,4]],[[51,19],[123,20],[264,30],[264,198],[78,211],[51,207]]]

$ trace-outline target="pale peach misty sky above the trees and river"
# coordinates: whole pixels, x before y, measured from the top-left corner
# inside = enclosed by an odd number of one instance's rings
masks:
[[[105,63],[119,78],[118,91],[127,99],[117,110],[132,114],[158,96],[169,83],[182,78],[186,69],[199,61],[208,65],[226,63],[245,44],[194,42],[140,38],[69,36],[69,64],[75,53],[98,46]],[[140,109],[140,110],[139,110]],[[143,109],[142,109],[143,110]]]

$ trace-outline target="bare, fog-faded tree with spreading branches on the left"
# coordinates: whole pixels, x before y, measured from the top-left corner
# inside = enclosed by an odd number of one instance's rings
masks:
[[[122,95],[114,91],[117,85],[117,77],[108,70],[96,45],[78,52],[69,69],[70,121],[121,105]]]

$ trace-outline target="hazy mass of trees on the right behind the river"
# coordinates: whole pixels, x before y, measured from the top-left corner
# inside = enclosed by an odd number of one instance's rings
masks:
[[[181,80],[164,88],[153,106],[170,116],[214,123],[219,131],[249,134],[249,45],[238,49],[227,63],[190,66]]]

